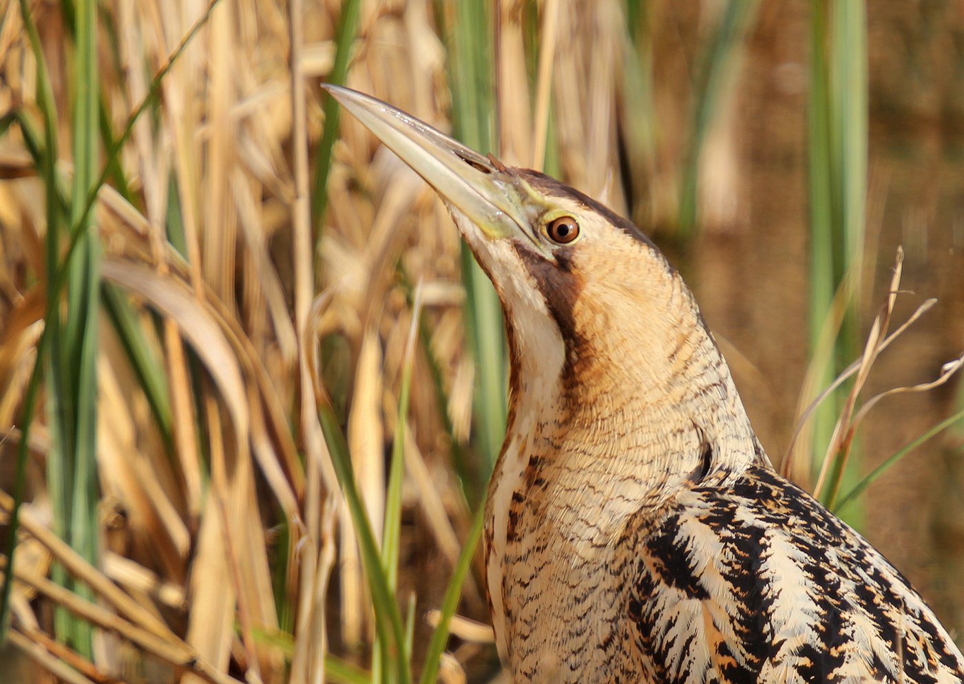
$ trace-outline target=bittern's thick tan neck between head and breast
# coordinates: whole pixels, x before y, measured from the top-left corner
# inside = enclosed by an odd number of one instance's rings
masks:
[[[679,305],[664,309],[676,318],[627,315],[587,298],[574,329],[557,329],[561,345],[546,344],[545,330],[525,339],[510,325],[512,396],[496,476],[565,488],[559,497],[591,488],[604,506],[631,499],[638,508],[765,460],[692,296],[677,294]],[[517,328],[531,333],[533,322]]]

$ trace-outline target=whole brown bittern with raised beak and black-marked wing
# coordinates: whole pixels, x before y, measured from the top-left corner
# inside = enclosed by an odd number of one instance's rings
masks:
[[[777,474],[680,274],[635,225],[360,92],[501,300],[485,559],[515,682],[961,682],[924,600]]]

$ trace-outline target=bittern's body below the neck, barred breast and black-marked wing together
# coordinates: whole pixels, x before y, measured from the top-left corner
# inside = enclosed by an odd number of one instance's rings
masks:
[[[605,538],[510,543],[514,681],[964,681],[960,651],[897,569],[766,464],[715,471]]]

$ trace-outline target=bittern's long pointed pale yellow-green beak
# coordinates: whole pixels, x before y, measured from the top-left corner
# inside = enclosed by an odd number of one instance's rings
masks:
[[[518,189],[500,164],[382,100],[322,87],[490,239],[528,233]]]

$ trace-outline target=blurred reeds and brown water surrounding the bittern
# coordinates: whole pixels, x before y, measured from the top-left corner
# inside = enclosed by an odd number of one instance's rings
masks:
[[[325,81],[639,225],[964,627],[960,0],[0,0],[0,682],[502,676],[498,303]]]

